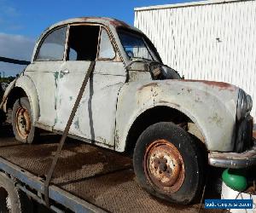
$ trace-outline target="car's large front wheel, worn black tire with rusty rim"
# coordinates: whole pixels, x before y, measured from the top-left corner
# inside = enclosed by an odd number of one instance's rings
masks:
[[[161,122],[144,130],[133,164],[139,184],[160,199],[189,204],[201,193],[204,159],[195,141],[175,124]]]

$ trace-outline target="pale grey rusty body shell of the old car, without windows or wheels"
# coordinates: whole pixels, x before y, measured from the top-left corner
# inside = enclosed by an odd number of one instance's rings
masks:
[[[61,21],[54,26],[50,26],[35,45],[31,65],[26,67],[25,72],[15,82],[11,83],[6,89],[2,106],[5,112],[8,111],[7,102],[12,89],[19,87],[26,92],[32,107],[33,124],[45,130],[63,131],[67,118],[71,112],[70,108],[76,96],[68,95],[68,90],[58,90],[56,94],[56,84],[63,80],[60,74],[60,67],[67,67],[67,61],[59,61],[55,66],[53,62],[48,62],[48,68],[52,70],[50,78],[38,76],[34,72],[38,67],[43,66],[43,62],[35,62],[38,47],[42,39],[57,27],[74,24],[97,24],[108,29],[114,49],[116,51],[115,60],[104,63],[96,63],[96,70],[93,73],[93,80],[90,79],[86,87],[81,106],[76,117],[73,119],[73,125],[70,130],[71,136],[77,136],[84,141],[93,142],[101,147],[118,152],[124,152],[127,137],[131,130],[132,124],[143,112],[154,107],[170,107],[185,114],[203,135],[203,142],[209,151],[231,152],[234,148],[236,134],[236,105],[238,99],[238,88],[229,83],[216,83],[196,80],[168,79],[153,80],[143,63],[132,63],[126,55],[122,44],[119,41],[117,33],[118,27],[129,28],[133,31],[140,32],[137,28],[126,25],[119,20],[109,18],[77,18],[72,20]],[[77,61],[76,61],[77,62]],[[160,61],[161,62],[161,61]],[[81,66],[87,67],[86,62],[79,61]],[[45,63],[44,63],[45,64]],[[75,65],[70,63],[68,66],[75,69]],[[78,66],[78,65],[76,65]],[[84,68],[84,69],[85,69]],[[111,69],[113,76],[104,73]],[[49,72],[47,70],[46,72]],[[97,75],[104,74],[104,78],[97,78]],[[98,75],[98,76],[99,76]],[[82,83],[80,77],[73,76],[75,84]],[[37,85],[44,80],[48,83],[47,90],[38,89]],[[38,83],[35,83],[37,82]],[[37,84],[37,85],[35,85]],[[102,93],[100,98],[95,101],[90,100],[90,89],[96,88],[96,92]],[[78,94],[79,86],[73,89],[74,94]],[[66,97],[64,97],[66,95]],[[89,95],[89,96],[88,96]],[[44,104],[40,107],[40,99],[48,98],[49,105]],[[65,98],[65,101],[61,97]],[[108,103],[108,97],[113,100]],[[114,101],[115,100],[115,101]],[[102,101],[102,102],[101,102]],[[92,107],[86,109],[86,107]],[[43,106],[43,105],[42,105]],[[58,110],[61,114],[58,117]],[[84,111],[84,109],[86,109]],[[90,114],[92,111],[92,115]],[[100,113],[105,112],[105,113]],[[44,117],[44,115],[47,115]],[[54,119],[52,119],[54,118]],[[81,119],[83,118],[83,119]],[[109,124],[108,124],[109,123]],[[93,132],[92,132],[93,130]]]

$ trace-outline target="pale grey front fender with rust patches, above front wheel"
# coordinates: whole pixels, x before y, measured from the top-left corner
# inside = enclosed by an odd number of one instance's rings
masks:
[[[201,130],[208,150],[234,147],[238,88],[229,83],[195,80],[141,80],[125,84],[117,106],[116,150],[125,149],[127,133],[146,110],[167,106],[187,115]]]

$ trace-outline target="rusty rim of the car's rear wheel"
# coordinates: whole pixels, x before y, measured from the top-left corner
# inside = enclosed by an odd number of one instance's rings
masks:
[[[26,139],[30,133],[31,119],[26,108],[19,107],[16,112],[16,130],[22,139]]]

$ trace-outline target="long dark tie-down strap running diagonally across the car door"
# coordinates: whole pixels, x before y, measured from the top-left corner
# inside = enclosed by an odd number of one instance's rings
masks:
[[[74,103],[74,106],[73,106],[73,109],[72,109],[72,112],[68,118],[68,121],[67,121],[67,125],[66,125],[66,128],[63,132],[63,135],[61,136],[61,141],[57,147],[57,151],[55,153],[55,157],[53,158],[52,160],[52,163],[50,165],[50,168],[49,168],[49,171],[46,175],[46,181],[44,182],[44,201],[46,203],[47,206],[49,206],[49,182],[52,178],[52,175],[54,173],[54,170],[55,170],[55,166],[58,162],[58,159],[60,157],[60,154],[61,154],[61,150],[62,150],[62,147],[67,139],[67,134],[68,134],[68,131],[70,129],[70,126],[71,124],[73,123],[73,118],[78,110],[78,107],[79,107],[79,103],[82,99],[82,96],[84,94],[84,89],[86,87],[86,84],[88,83],[88,80],[90,78],[90,73],[93,72],[94,70],[94,67],[95,67],[95,61],[91,61],[90,62],[90,66],[89,66],[89,69],[84,77],[84,81],[82,83],[82,86],[81,86],[81,89],[79,90],[79,95],[77,97],[77,100],[75,101]]]

